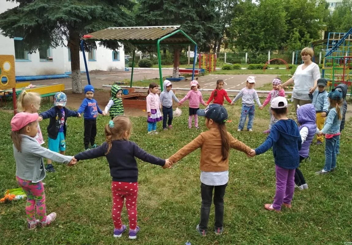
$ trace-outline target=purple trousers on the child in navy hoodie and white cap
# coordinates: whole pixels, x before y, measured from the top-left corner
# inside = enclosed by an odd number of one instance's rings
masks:
[[[295,169],[284,169],[275,165],[276,193],[272,207],[281,210],[282,203],[290,204],[295,191]]]

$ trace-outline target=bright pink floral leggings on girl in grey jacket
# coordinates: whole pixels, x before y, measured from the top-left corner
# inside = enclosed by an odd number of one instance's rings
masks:
[[[23,191],[27,195],[26,203],[26,215],[27,221],[35,221],[34,206],[37,206],[37,214],[40,222],[46,221],[46,208],[45,208],[45,193],[42,181],[38,183],[32,183],[29,180],[22,180],[17,177],[17,183],[22,187]]]

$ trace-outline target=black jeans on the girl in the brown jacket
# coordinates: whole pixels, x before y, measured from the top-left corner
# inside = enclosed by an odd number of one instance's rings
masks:
[[[212,206],[212,196],[214,189],[215,223],[214,227],[224,226],[224,195],[227,183],[222,186],[208,186],[201,183],[202,206],[200,208],[200,230],[207,230],[210,206]]]

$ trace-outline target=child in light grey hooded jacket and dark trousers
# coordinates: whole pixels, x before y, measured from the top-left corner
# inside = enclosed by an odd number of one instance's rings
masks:
[[[160,93],[159,99],[163,107],[163,130],[167,130],[168,128],[172,129],[172,99],[174,99],[177,103],[180,103],[180,101],[172,91],[172,83],[169,80],[164,81],[163,92]],[[168,128],[166,127],[166,121],[168,122]]]

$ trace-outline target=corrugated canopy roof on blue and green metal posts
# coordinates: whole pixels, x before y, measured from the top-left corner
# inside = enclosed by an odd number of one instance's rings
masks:
[[[157,40],[179,30],[180,26],[135,26],[109,27],[85,35],[82,39],[89,41],[118,41],[131,44],[156,44]],[[92,36],[86,38],[86,36]],[[192,44],[184,32],[178,32],[164,40],[163,44]]]

